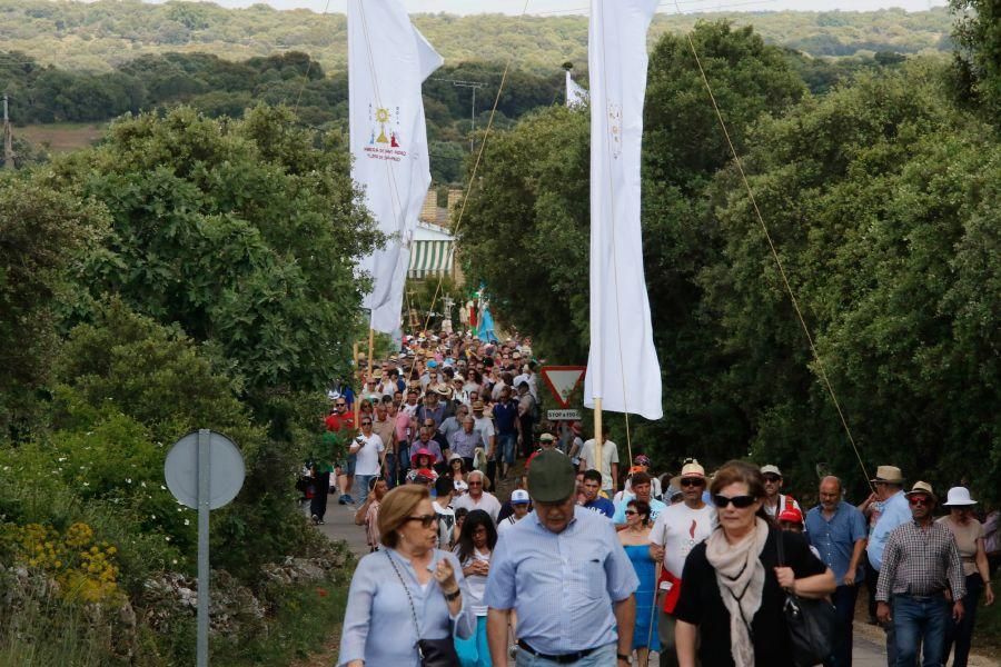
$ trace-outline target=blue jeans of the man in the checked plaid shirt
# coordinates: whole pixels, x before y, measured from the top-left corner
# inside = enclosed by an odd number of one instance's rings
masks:
[[[923,644],[922,667],[939,667],[945,648],[945,627],[951,623],[949,601],[942,596],[893,596],[893,629],[896,634],[896,667],[918,666],[918,646]]]

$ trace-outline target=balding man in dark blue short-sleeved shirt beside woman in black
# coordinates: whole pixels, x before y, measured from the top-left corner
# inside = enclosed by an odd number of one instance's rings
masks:
[[[842,500],[841,480],[836,477],[821,480],[820,500],[820,505],[806,512],[806,538],[838,580],[832,601],[839,620],[834,654],[824,665],[849,667],[852,664],[855,598],[863,576],[859,564],[868,537],[865,517],[855,506]]]

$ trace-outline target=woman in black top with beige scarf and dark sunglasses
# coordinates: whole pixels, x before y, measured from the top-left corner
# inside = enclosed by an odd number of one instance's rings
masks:
[[[757,466],[730,461],[710,490],[720,526],[685,560],[675,607],[678,664],[694,667],[697,651],[713,667],[792,667],[783,588],[821,598],[834,593],[834,573],[810,552],[802,535],[771,524]]]

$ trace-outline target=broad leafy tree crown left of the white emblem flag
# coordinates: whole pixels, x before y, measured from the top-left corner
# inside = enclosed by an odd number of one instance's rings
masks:
[[[78,317],[117,293],[217,345],[251,394],[316,390],[344,364],[330,334],[353,327],[364,289],[353,258],[378,233],[336,137],[283,109],[229,122],[182,108],[119,121],[56,169],[112,218],[81,271]]]

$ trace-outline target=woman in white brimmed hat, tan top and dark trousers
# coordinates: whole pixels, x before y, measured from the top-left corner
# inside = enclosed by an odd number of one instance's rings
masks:
[[[949,528],[955,537],[955,546],[963,561],[963,576],[967,578],[967,595],[963,597],[965,614],[958,623],[950,619],[945,628],[945,651],[942,655],[949,657],[949,650],[955,646],[952,667],[967,667],[980,595],[983,594],[985,605],[994,604],[991,570],[983,547],[983,526],[973,518],[974,505],[977,500],[970,497],[969,489],[952,487],[945,501],[949,514],[939,519],[939,522]]]

